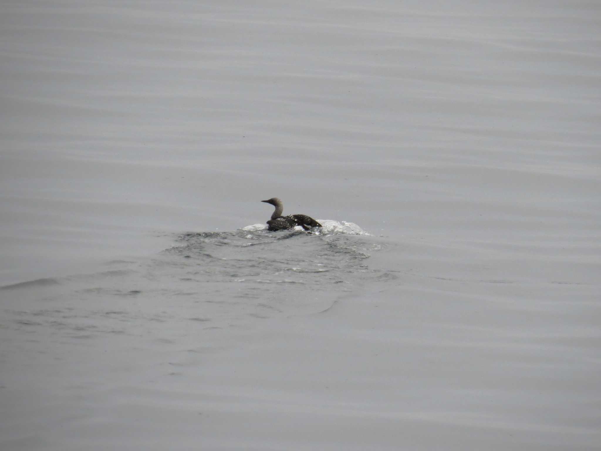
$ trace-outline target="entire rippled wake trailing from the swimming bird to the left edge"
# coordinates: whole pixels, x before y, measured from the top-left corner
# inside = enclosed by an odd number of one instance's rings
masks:
[[[57,336],[145,337],[151,324],[203,324],[219,330],[278,315],[322,311],[332,296],[395,277],[371,269],[381,245],[352,222],[321,230],[186,233],[148,259],[111,260],[94,274],[44,278],[0,289],[11,293],[0,327]],[[27,305],[27,307],[25,307]]]

